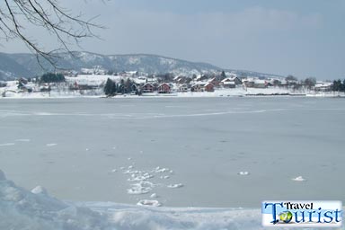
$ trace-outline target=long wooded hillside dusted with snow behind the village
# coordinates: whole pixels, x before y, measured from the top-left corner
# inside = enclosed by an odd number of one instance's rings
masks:
[[[207,63],[190,62],[172,57],[158,55],[101,55],[89,52],[58,53],[54,60],[59,69],[80,71],[81,68],[102,68],[113,72],[138,71],[146,74],[193,75],[214,73],[223,70]],[[43,68],[42,68],[43,67]],[[54,71],[46,60],[40,59],[40,64],[34,54],[4,54],[0,53],[0,80],[13,79],[19,76],[32,77],[47,71]],[[266,76],[250,71],[229,70],[237,74]]]

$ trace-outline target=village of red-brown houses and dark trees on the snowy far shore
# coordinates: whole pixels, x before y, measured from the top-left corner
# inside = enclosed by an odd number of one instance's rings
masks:
[[[54,75],[54,74],[53,74]],[[176,95],[306,95],[332,94],[332,82],[318,82],[313,78],[298,81],[296,77],[243,76],[231,72],[199,75],[148,75],[138,71],[112,73],[102,66],[65,71],[58,75],[61,81],[40,81],[40,78],[20,77],[14,81],[1,81],[2,97],[30,95],[89,95],[89,96],[176,96]],[[111,93],[105,88],[108,81],[115,86]],[[39,94],[38,94],[39,93]],[[333,93],[334,94],[334,93]]]

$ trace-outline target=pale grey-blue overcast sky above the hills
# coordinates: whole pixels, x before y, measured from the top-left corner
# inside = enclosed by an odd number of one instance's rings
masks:
[[[345,78],[343,0],[60,0],[107,27],[86,51],[147,53],[278,75]],[[40,34],[30,31],[31,36]],[[50,49],[52,40],[40,38]],[[2,41],[4,42],[4,41]],[[51,47],[53,49],[53,47]],[[17,42],[4,52],[28,52]]]

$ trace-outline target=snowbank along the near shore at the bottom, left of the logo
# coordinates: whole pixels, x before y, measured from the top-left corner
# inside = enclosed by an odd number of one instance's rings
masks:
[[[50,197],[42,187],[36,187],[32,192],[24,190],[6,180],[0,170],[0,229],[263,229],[260,209],[141,206],[146,202],[155,203],[155,200],[142,200],[138,206],[67,203]]]

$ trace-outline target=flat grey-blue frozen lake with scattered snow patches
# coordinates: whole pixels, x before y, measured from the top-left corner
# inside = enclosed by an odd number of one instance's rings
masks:
[[[0,100],[0,169],[58,199],[345,202],[344,118],[340,98]],[[138,175],[147,175],[147,193],[128,194]]]

